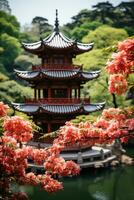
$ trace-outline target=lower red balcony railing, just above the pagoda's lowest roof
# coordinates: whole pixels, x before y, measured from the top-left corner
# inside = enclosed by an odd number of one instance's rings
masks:
[[[79,104],[79,103],[90,103],[89,98],[45,98],[45,99],[25,99],[25,103],[29,104]]]

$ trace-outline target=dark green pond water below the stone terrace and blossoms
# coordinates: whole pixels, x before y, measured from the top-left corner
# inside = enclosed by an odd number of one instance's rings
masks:
[[[134,149],[128,150],[134,156]],[[80,176],[62,179],[64,190],[48,194],[37,187],[21,186],[30,200],[134,200],[134,166],[88,169]]]

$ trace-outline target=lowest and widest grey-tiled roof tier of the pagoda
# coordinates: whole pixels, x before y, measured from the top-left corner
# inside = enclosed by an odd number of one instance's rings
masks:
[[[80,103],[70,105],[12,103],[12,105],[16,110],[27,114],[37,114],[40,112],[50,114],[88,114],[90,112],[95,112],[103,109],[105,102],[94,104]]]

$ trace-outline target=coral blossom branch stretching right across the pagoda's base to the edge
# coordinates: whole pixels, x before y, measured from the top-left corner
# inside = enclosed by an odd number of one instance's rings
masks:
[[[119,108],[104,109],[102,116],[94,123],[85,122],[78,126],[67,123],[62,127],[56,142],[64,141],[64,145],[74,145],[82,147],[84,145],[93,146],[96,143],[111,143],[116,138],[121,138],[122,142],[127,142],[130,130],[134,130],[134,119],[129,119],[132,115],[130,110]],[[129,137],[133,135],[129,135]]]

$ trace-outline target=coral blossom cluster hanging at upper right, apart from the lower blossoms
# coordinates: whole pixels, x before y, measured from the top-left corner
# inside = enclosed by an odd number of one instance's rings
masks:
[[[109,91],[121,95],[127,91],[126,79],[134,72],[134,39],[119,42],[117,53],[107,62],[107,71],[110,74]]]

